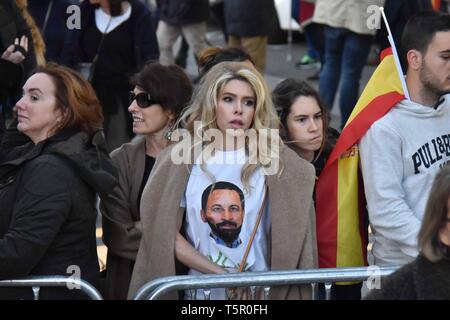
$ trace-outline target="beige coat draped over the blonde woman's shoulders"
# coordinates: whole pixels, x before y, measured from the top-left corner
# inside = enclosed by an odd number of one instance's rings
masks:
[[[173,146],[158,157],[141,200],[143,236],[136,258],[128,298],[145,283],[175,272],[175,236],[183,219],[180,201],[189,179],[190,167],[174,165]],[[287,147],[280,154],[284,170],[267,176],[271,238],[270,269],[317,268],[315,212],[312,200],[315,171]],[[177,293],[164,296],[177,299]],[[309,285],[271,289],[271,299],[310,299]]]

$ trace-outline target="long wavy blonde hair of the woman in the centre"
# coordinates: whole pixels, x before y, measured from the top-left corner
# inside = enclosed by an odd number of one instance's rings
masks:
[[[255,94],[255,114],[250,129],[255,129],[257,140],[260,138],[259,129],[279,129],[280,127],[280,121],[272,104],[270,91],[262,75],[255,68],[248,66],[248,64],[241,62],[221,62],[212,67],[202,78],[200,84],[194,91],[190,105],[185,109],[177,122],[177,126],[188,130],[191,137],[200,138],[198,141],[202,143],[202,147],[207,145],[201,139],[205,131],[218,129],[216,107],[224,87],[232,80],[240,80],[248,83]],[[196,121],[201,121],[202,123],[199,132],[194,132],[194,122]],[[277,145],[268,144],[267,148],[259,148],[258,141],[255,141],[255,139],[246,139],[245,148],[247,153],[249,149],[258,151],[257,164],[250,164],[247,159],[241,171],[241,181],[246,190],[249,190],[250,177],[258,167],[264,167],[263,163],[280,161],[279,153],[272,152],[273,148],[279,148],[281,150],[283,146],[283,142],[278,134],[276,138]],[[203,165],[201,167],[208,174],[205,167]],[[278,174],[281,174],[282,168],[283,165],[280,162]],[[210,174],[209,176],[214,180],[214,177]]]

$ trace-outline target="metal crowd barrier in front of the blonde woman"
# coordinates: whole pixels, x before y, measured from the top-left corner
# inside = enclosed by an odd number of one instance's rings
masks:
[[[194,297],[197,289],[204,290],[205,300],[209,300],[211,288],[250,287],[252,297],[255,297],[254,287],[263,287],[264,300],[269,299],[270,286],[311,284],[312,296],[316,296],[317,284],[324,283],[325,299],[331,298],[331,286],[334,282],[353,282],[379,280],[395,270],[392,267],[353,267],[353,268],[324,268],[285,271],[245,272],[210,274],[200,276],[172,276],[158,278],[146,283],[136,293],[134,300],[156,300],[161,295],[175,290],[192,290]]]

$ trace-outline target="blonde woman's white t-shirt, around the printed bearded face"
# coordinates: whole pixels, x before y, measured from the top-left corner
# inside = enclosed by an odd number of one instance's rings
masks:
[[[185,197],[181,206],[186,208],[185,233],[187,240],[209,260],[223,268],[239,269],[239,264],[244,255],[250,239],[250,235],[256,223],[256,218],[264,197],[264,175],[261,169],[257,169],[250,177],[250,192],[244,190],[241,182],[241,170],[245,163],[244,149],[237,151],[216,151],[216,154],[208,159],[205,164],[209,174],[215,177],[215,181],[195,164],[185,191]],[[202,194],[208,186],[214,182],[225,181],[239,187],[244,194],[245,210],[239,239],[233,247],[228,247],[223,241],[216,241],[208,223],[201,217]],[[270,218],[268,214],[268,198],[263,216],[256,232],[255,239],[247,257],[244,271],[268,270],[269,256],[267,239],[270,232]],[[237,243],[240,243],[237,245]],[[199,275],[196,270],[189,270],[190,275]],[[202,291],[202,290],[199,290]],[[202,293],[199,293],[201,295]],[[199,296],[197,296],[199,297]],[[211,299],[225,299],[224,289],[211,290]]]

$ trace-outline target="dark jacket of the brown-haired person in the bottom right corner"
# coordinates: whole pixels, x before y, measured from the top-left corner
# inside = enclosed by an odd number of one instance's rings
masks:
[[[431,262],[419,255],[372,290],[368,300],[447,300],[450,299],[450,259]]]

